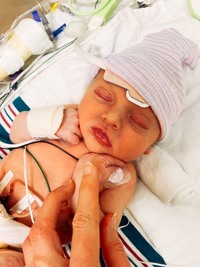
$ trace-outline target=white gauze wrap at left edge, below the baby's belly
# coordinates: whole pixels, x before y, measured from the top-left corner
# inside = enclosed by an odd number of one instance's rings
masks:
[[[0,248],[5,248],[7,245],[21,248],[30,229],[30,227],[14,221],[0,203]]]

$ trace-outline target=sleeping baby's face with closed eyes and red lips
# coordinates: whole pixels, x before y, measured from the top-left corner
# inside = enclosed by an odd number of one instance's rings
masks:
[[[128,162],[155,143],[160,125],[151,107],[139,107],[126,98],[126,89],[103,79],[101,70],[79,105],[83,139],[91,152]]]

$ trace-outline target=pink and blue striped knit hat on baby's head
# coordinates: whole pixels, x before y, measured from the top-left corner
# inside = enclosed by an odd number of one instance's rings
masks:
[[[190,39],[173,28],[146,35],[137,45],[111,54],[104,65],[133,86],[149,103],[161,126],[159,142],[169,135],[185,100],[183,69],[194,69],[199,49]],[[99,67],[92,65],[90,80]]]

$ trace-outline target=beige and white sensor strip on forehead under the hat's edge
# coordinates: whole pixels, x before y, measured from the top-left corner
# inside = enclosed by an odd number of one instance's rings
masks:
[[[140,107],[149,107],[149,103],[135,90],[135,88],[107,68],[103,75],[103,79],[109,83],[113,83],[127,89],[126,97],[132,103]]]

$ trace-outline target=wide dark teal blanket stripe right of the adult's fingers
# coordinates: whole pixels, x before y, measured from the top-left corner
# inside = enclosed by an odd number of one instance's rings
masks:
[[[120,226],[126,225],[127,222],[127,218],[122,216]],[[155,249],[147,242],[147,240],[141,235],[135,226],[131,224],[131,222],[129,222],[126,227],[121,228],[121,231],[130,240],[130,243],[132,243],[149,262],[166,264],[163,257],[155,251]]]

